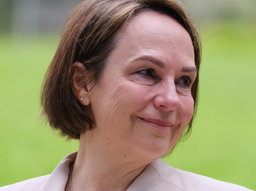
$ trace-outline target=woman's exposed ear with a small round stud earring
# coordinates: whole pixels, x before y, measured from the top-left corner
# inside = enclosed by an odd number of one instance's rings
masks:
[[[71,68],[72,72],[72,91],[83,106],[91,104],[89,96],[90,86],[88,84],[88,75],[85,66],[80,62],[75,62]]]

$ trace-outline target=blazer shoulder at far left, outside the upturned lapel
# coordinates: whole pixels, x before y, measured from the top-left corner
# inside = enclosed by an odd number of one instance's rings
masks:
[[[50,175],[31,178],[8,186],[0,187],[0,191],[41,191]]]

